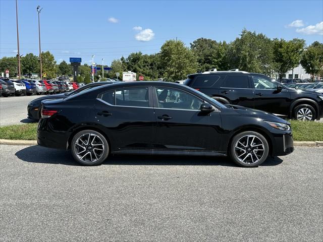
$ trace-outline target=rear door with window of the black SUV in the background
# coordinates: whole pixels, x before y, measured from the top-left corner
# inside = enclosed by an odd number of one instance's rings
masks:
[[[253,108],[254,97],[250,88],[249,76],[243,74],[227,75],[221,82],[219,96],[231,104]]]

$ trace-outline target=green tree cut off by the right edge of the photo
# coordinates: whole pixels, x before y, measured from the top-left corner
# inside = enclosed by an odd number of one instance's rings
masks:
[[[321,75],[323,72],[323,44],[315,41],[302,53],[302,67],[306,73],[311,75],[312,81],[315,75]]]

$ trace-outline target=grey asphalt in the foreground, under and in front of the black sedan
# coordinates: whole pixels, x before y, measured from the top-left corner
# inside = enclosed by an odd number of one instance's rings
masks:
[[[78,166],[0,150],[0,241],[321,241],[323,148],[241,168],[224,158],[114,156]]]

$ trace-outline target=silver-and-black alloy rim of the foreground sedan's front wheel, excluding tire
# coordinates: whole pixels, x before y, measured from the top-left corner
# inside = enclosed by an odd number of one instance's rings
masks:
[[[235,144],[235,156],[245,164],[258,162],[264,155],[264,144],[255,135],[245,135]]]

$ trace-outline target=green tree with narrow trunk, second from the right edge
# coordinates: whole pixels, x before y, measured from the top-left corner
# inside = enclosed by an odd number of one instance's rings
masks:
[[[274,39],[273,44],[273,69],[282,79],[283,74],[297,67],[300,62],[301,53],[304,49],[303,39]]]

